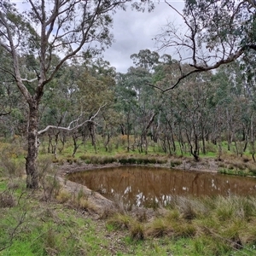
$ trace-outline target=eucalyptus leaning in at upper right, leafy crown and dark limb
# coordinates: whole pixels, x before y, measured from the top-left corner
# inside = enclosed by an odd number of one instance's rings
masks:
[[[241,58],[247,73],[253,70],[247,65],[255,59],[255,1],[186,0],[182,11],[167,0],[165,3],[183,24],[171,20],[155,40],[159,49],[173,49],[180,63],[189,61],[191,66],[184,70],[180,65],[178,78],[165,91],[192,73],[209,71]]]

